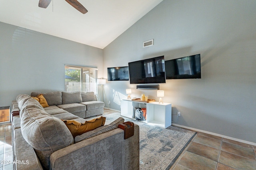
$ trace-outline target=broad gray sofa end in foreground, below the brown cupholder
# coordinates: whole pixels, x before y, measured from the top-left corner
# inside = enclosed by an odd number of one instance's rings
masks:
[[[124,139],[122,129],[114,129],[53,152],[52,170],[65,169],[139,169],[139,126],[134,135]]]

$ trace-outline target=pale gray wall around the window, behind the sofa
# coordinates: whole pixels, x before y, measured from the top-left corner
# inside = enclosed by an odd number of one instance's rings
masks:
[[[0,106],[18,94],[65,90],[64,64],[98,67],[103,50],[0,22]]]

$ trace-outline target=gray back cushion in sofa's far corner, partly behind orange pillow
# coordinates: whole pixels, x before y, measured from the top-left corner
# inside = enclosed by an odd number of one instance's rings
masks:
[[[61,92],[49,92],[49,93],[32,92],[31,96],[36,97],[39,94],[44,95],[44,98],[46,99],[48,105],[50,105],[50,106],[62,104],[62,93]]]

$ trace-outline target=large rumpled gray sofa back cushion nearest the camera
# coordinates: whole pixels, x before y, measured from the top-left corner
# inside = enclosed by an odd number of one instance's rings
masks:
[[[65,123],[37,108],[28,108],[21,118],[21,131],[30,144],[44,169],[50,168],[50,155],[72,145],[74,138]]]

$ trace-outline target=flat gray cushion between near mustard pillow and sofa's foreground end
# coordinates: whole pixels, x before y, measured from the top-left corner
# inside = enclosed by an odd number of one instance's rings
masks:
[[[114,129],[118,128],[118,125],[120,123],[124,123],[124,118],[119,117],[118,119],[116,119],[115,121],[113,121],[112,123],[110,123],[109,125],[104,125],[102,127],[98,127],[97,129],[94,129],[92,131],[88,131],[86,133],[83,133],[82,135],[78,135],[75,137],[75,143],[78,143],[80,141],[83,141],[85,139],[89,139],[95,136],[98,136],[100,134],[112,131]]]

